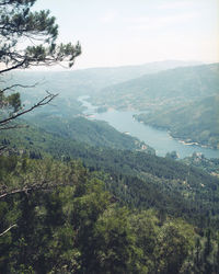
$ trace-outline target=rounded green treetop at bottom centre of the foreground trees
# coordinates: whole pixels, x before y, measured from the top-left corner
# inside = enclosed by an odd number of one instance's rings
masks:
[[[146,273],[147,267],[139,260],[142,251],[135,244],[136,235],[131,231],[128,215],[125,208],[112,207],[96,221],[95,273]]]

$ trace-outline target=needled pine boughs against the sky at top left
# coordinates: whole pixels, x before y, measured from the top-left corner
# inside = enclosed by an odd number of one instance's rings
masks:
[[[56,45],[58,25],[49,11],[32,12],[35,3],[28,1],[4,1],[0,7],[0,61],[9,66],[0,72],[33,65],[51,65],[69,60],[72,66],[74,58],[81,53],[80,45]],[[35,39],[36,45],[28,45],[23,52],[19,44],[23,37]]]

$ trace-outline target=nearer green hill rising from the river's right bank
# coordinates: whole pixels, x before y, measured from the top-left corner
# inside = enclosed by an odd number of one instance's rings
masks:
[[[135,117],[145,124],[166,128],[173,137],[186,142],[219,148],[219,95]]]

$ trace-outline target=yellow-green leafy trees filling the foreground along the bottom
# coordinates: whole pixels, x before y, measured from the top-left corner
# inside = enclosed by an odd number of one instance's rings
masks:
[[[111,181],[107,174],[91,173],[78,161],[0,159],[2,191],[11,187],[11,182],[13,190],[21,189],[24,179],[30,187],[16,194],[7,191],[0,202],[1,231],[16,225],[0,237],[2,273],[217,270],[215,230],[200,230],[198,236],[194,232],[197,228],[181,219],[166,219],[151,209],[140,212],[137,204],[132,210],[120,207],[105,191]],[[39,180],[47,182],[46,187],[34,189]],[[116,195],[119,197],[119,192]],[[199,246],[195,239],[200,239]]]

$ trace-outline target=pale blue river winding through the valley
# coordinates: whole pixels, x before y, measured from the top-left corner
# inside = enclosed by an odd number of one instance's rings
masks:
[[[96,106],[88,102],[87,99],[88,96],[80,96],[78,100],[87,107],[84,114],[88,115],[88,118],[105,121],[117,130],[143,140],[155,149],[158,156],[165,156],[166,152],[175,150],[180,158],[192,156],[193,152],[201,152],[207,158],[219,158],[219,150],[196,145],[184,145],[173,139],[166,130],[160,130],[135,121],[132,115],[138,114],[138,112],[108,110],[104,113],[96,113]]]

